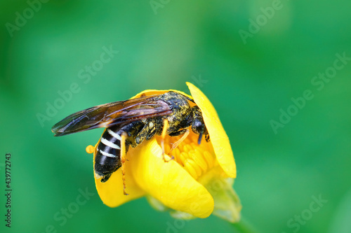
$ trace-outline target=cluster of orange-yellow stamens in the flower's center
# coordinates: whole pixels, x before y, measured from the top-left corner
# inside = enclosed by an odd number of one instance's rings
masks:
[[[195,180],[206,171],[216,165],[216,155],[211,142],[206,142],[203,138],[201,144],[197,143],[199,135],[190,132],[187,138],[171,151],[173,143],[176,143],[182,136],[166,136],[164,149],[166,154],[173,155],[174,160],[180,164]],[[160,143],[161,137],[157,136]]]

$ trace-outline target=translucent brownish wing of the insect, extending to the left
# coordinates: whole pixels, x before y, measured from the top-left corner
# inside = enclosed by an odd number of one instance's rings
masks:
[[[102,104],[73,113],[51,129],[54,136],[63,136],[100,127],[111,127],[157,115],[170,114],[171,107],[157,96],[140,97]]]

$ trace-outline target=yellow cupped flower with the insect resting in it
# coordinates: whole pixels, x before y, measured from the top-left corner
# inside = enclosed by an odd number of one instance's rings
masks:
[[[237,175],[232,148],[215,108],[207,97],[192,83],[187,83],[192,96],[201,109],[211,141],[197,143],[198,135],[190,130],[189,136],[162,159],[160,136],[129,148],[126,155],[126,190],[124,195],[121,169],[115,171],[106,183],[95,178],[102,202],[110,207],[146,196],[154,208],[168,210],[175,218],[206,218],[211,213],[234,223],[239,221],[241,204],[232,185]],[[163,94],[170,90],[145,90],[142,95]],[[133,99],[132,98],[132,99]],[[165,151],[178,137],[166,136]],[[96,147],[96,146],[95,146]],[[87,152],[95,151],[88,146]],[[94,154],[95,158],[95,154]]]

